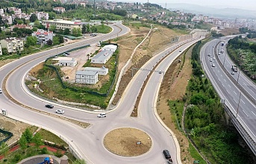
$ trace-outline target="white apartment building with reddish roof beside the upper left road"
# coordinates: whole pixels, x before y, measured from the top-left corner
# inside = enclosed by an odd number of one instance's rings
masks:
[[[49,40],[53,40],[53,32],[46,31],[43,29],[38,29],[31,34],[32,36],[37,37],[37,44],[46,44]]]

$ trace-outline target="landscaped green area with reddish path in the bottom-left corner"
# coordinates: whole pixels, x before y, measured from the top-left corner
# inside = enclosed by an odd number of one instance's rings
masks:
[[[55,134],[51,134],[51,132],[44,129],[40,129],[36,134],[34,134],[36,130],[37,127],[35,126],[26,128],[19,141],[16,142],[16,145],[13,145],[13,148],[16,148],[15,151],[10,151],[7,143],[2,142],[0,145],[0,156],[4,155],[4,158],[0,160],[0,163],[16,164],[25,158],[40,154],[49,154],[56,157],[62,157],[65,154],[69,157],[69,163],[83,164],[83,161],[76,160],[69,152],[66,142],[60,140],[60,138]],[[45,145],[55,148],[56,151],[49,151]]]

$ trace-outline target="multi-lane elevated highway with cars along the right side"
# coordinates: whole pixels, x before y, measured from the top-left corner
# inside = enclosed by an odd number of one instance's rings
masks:
[[[216,53],[214,47],[216,47]],[[221,52],[221,50],[224,51]],[[231,110],[235,119],[243,126],[242,131],[245,131],[244,138],[256,142],[256,106],[248,99],[248,97],[237,88],[238,83],[249,93],[252,97],[256,97],[256,87],[253,82],[248,79],[242,71],[234,72],[231,70],[231,59],[225,55],[225,45],[219,45],[219,40],[214,39],[207,42],[201,50],[202,65],[213,84],[213,87],[219,94],[222,102]],[[219,62],[218,59],[219,58]],[[224,62],[225,61],[225,62]],[[225,65],[225,68],[222,65]],[[231,78],[234,78],[232,82]],[[251,145],[255,153],[255,146]]]

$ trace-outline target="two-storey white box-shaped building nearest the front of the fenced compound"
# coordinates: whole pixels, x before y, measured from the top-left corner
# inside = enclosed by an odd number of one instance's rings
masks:
[[[78,70],[75,73],[75,82],[95,85],[98,82],[98,72],[92,70]]]

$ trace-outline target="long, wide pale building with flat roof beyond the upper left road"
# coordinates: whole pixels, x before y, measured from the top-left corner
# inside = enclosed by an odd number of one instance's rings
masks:
[[[73,28],[81,28],[81,22],[72,22],[72,21],[63,21],[63,20],[51,20],[51,21],[43,21],[42,24],[49,28],[51,25],[56,25],[57,29],[65,30],[65,28],[69,28],[70,31]]]

